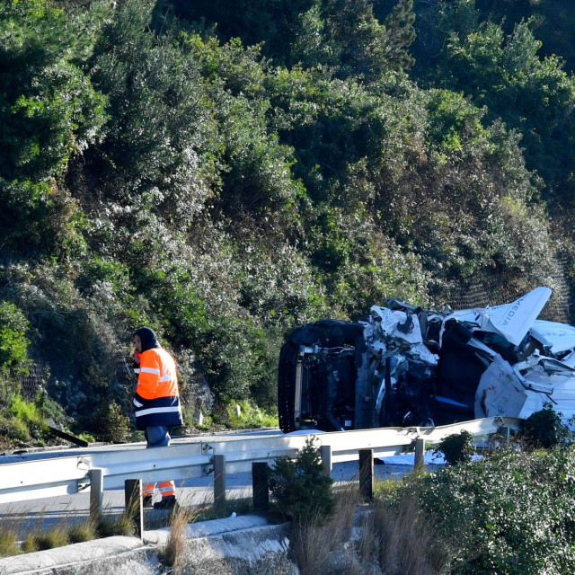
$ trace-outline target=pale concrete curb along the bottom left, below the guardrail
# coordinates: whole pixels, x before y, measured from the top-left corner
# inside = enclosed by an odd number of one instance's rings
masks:
[[[0,575],[158,575],[165,572],[158,552],[170,529],[146,531],[137,537],[114,536],[56,549],[0,559]],[[264,517],[247,515],[188,526],[182,562],[187,573],[253,572],[295,575],[288,559],[288,524],[269,525]]]

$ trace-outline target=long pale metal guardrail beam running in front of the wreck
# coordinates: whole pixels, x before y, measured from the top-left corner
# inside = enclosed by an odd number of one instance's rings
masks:
[[[486,418],[436,428],[380,428],[310,431],[314,445],[329,447],[331,464],[357,461],[360,449],[372,449],[375,457],[399,455],[411,450],[417,438],[429,447],[461,430],[475,440],[488,438],[500,429],[518,429],[515,418]],[[88,486],[92,500],[102,490],[121,489],[128,479],[161,481],[169,476],[184,481],[213,473],[215,456],[225,456],[226,473],[252,470],[252,463],[273,461],[279,456],[296,456],[310,435],[279,435],[269,438],[229,438],[225,441],[177,444],[154,449],[137,448],[116,452],[87,453],[0,464],[0,503],[56,497],[81,491]]]

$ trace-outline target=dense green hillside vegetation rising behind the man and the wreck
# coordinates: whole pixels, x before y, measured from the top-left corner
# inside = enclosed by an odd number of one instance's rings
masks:
[[[566,4],[0,4],[0,433],[19,394],[127,430],[142,324],[191,424],[204,381],[273,409],[290,329],[387,296],[569,320]]]

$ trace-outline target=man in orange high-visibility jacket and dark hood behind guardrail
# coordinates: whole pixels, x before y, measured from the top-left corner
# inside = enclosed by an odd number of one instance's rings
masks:
[[[180,392],[173,357],[163,349],[154,330],[142,327],[134,333],[136,351],[134,357],[137,388],[134,395],[136,406],[136,427],[144,429],[147,447],[170,445],[170,429],[181,425]],[[144,506],[152,506],[155,483],[143,487]],[[154,504],[155,509],[170,509],[176,504],[174,482],[161,482],[162,500]]]

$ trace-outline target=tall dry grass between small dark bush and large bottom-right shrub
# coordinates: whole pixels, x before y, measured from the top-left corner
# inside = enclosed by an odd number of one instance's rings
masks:
[[[382,488],[388,494],[397,485]],[[420,514],[416,494],[362,505],[353,487],[337,493],[325,525],[294,526],[292,553],[302,575],[435,575],[445,572],[447,544]],[[395,501],[392,503],[391,501]],[[354,529],[354,526],[356,529]]]

